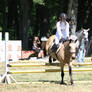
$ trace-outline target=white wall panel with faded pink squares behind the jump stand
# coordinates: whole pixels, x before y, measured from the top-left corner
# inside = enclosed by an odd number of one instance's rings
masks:
[[[5,40],[2,40],[2,33],[0,32],[0,62],[5,61]],[[20,40],[7,41],[7,58],[8,60],[16,61],[21,58],[22,44]]]

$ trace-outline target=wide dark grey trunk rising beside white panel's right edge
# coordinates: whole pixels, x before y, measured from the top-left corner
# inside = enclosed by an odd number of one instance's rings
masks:
[[[28,49],[28,30],[29,30],[29,0],[20,0],[22,16],[20,20],[20,39],[23,49]]]

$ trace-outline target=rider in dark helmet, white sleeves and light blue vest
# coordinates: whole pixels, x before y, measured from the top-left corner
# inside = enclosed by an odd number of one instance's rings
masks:
[[[60,14],[60,20],[56,24],[56,37],[51,47],[51,51],[56,51],[60,42],[64,42],[69,38],[69,23],[66,21],[67,15],[65,13]]]

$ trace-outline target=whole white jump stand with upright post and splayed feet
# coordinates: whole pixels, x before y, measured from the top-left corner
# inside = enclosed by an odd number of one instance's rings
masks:
[[[9,40],[9,33],[6,32],[5,33],[5,74],[2,76],[1,78],[1,82],[6,82],[7,84],[11,84],[11,80],[13,80],[14,82],[16,82],[16,80],[10,75],[8,74],[8,40]]]

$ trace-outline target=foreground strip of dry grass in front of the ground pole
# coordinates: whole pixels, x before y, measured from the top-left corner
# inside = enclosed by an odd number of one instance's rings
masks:
[[[58,83],[29,83],[0,86],[0,92],[92,92],[92,82],[75,83],[74,86]]]

